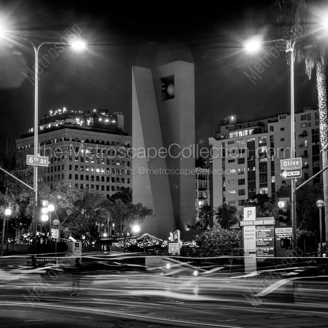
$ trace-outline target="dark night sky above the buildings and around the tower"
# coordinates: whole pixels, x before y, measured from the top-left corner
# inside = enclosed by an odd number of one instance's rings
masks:
[[[106,4],[0,1],[0,22],[6,30],[40,43],[59,41],[68,29],[88,42],[82,53],[41,48],[39,57],[48,51],[55,58],[46,57],[50,64],[42,61],[48,67],[41,66],[39,75],[39,117],[61,107],[84,112],[104,108],[123,112],[131,135],[131,66],[152,68],[175,60],[195,64],[196,143],[208,144],[211,116],[214,135],[227,115],[246,120],[290,111],[290,68],[284,51],[276,58],[269,53],[273,45],[256,54],[242,48],[254,34],[266,40],[279,36],[279,25],[268,10],[271,1],[222,2],[206,8],[160,1]],[[260,62],[257,56],[266,53],[268,61]],[[261,73],[253,83],[243,72],[254,70],[257,63]],[[29,74],[33,64],[29,43],[0,40],[0,147],[6,146],[7,137],[10,145],[34,124],[34,86],[22,74]],[[317,107],[317,91],[315,76],[309,81],[302,61],[295,65],[295,110],[304,107]]]

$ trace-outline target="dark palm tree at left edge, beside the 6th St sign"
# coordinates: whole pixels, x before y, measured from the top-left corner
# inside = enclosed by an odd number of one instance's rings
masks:
[[[25,163],[25,154],[18,154],[16,150],[11,147],[10,149],[0,150],[0,166],[4,170],[8,171],[10,174],[18,177],[25,182],[30,182],[32,180],[31,166],[27,166]],[[10,191],[11,187],[14,185],[15,180],[11,178],[8,174],[0,174],[0,190],[4,195],[4,209],[9,204],[10,198],[14,197]],[[5,227],[6,227],[6,216],[3,216],[2,221],[2,234],[1,234],[1,247],[0,256],[3,256],[4,248],[4,238],[5,238]]]

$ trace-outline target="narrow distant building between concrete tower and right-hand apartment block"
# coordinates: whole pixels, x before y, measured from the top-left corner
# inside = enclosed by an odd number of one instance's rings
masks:
[[[196,168],[196,186],[195,186],[195,198],[196,198],[196,221],[197,223],[202,217],[202,209],[204,206],[211,206],[210,201],[210,170]]]

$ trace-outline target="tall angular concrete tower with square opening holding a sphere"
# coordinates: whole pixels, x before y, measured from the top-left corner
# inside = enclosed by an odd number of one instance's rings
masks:
[[[195,216],[195,174],[180,174],[195,168],[194,64],[133,66],[132,119],[133,201],[156,215],[141,224],[142,233],[167,239],[179,229],[183,236]]]

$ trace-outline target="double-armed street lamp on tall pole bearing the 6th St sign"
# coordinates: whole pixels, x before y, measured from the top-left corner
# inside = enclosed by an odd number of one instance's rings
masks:
[[[66,42],[52,42],[52,41],[46,41],[40,43],[38,46],[35,46],[34,43],[22,36],[16,35],[11,31],[4,31],[1,29],[0,36],[4,37],[6,33],[10,33],[10,35],[14,35],[15,38],[25,40],[29,42],[34,50],[35,55],[35,82],[34,82],[34,156],[38,155],[38,79],[39,79],[39,49],[41,46],[47,44],[47,45],[64,45],[64,46],[72,46],[74,49],[81,50],[85,48],[85,45],[83,45],[82,40],[75,40],[71,43]],[[32,240],[33,244],[36,246],[36,225],[37,225],[37,200],[38,200],[38,167],[36,165],[33,165],[33,223],[32,223]]]

